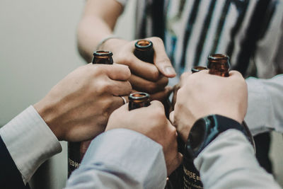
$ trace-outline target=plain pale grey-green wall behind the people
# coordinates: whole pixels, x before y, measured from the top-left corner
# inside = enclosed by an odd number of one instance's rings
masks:
[[[103,1],[103,0],[101,0]],[[127,6],[116,35],[132,40],[134,3]],[[0,126],[33,105],[70,71],[86,62],[76,50],[76,26],[85,1],[0,1]],[[63,188],[67,143],[33,178],[33,188]],[[272,133],[273,167],[283,185],[282,134]]]

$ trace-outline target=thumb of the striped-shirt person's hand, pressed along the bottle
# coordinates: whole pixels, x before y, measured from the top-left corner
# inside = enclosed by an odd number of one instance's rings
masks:
[[[172,67],[171,61],[166,54],[163,41],[160,38],[148,38],[154,43],[154,64],[158,70],[167,77],[176,76],[175,69]]]

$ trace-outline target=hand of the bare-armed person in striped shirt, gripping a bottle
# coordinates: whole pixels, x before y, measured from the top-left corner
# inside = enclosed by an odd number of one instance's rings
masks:
[[[160,38],[147,38],[154,43],[154,64],[143,62],[134,56],[134,44],[137,40],[128,42],[121,39],[107,40],[101,48],[113,52],[114,62],[126,64],[132,72],[129,81],[135,91],[151,94],[151,98],[163,101],[171,93],[165,89],[168,77],[174,77],[170,60],[166,55],[163,41]]]

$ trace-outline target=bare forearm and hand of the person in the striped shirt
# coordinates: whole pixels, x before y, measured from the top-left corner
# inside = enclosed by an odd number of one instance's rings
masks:
[[[132,75],[129,79],[135,91],[143,91],[151,94],[151,99],[164,101],[171,93],[171,88],[166,87],[168,77],[176,75],[171,61],[166,55],[163,41],[160,38],[148,38],[154,43],[154,64],[143,62],[134,56],[134,41],[120,38],[110,38],[117,18],[120,16],[127,0],[88,0],[83,17],[78,26],[79,52],[87,62],[91,62],[93,51],[110,50],[113,52],[113,60],[117,64],[125,64]]]

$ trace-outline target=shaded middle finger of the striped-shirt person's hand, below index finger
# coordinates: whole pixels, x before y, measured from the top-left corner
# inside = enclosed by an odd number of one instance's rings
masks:
[[[165,86],[168,84],[168,79],[166,77],[161,77],[156,82],[148,81],[139,76],[132,76],[129,78],[129,82],[132,84],[132,88],[137,91],[144,91],[146,93],[156,93],[158,91],[162,91]]]

